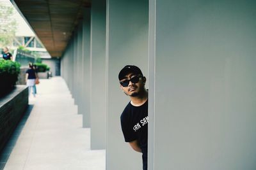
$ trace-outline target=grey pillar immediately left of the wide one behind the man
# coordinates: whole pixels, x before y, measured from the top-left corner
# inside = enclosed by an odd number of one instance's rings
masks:
[[[92,1],[91,148],[106,148],[106,0]]]

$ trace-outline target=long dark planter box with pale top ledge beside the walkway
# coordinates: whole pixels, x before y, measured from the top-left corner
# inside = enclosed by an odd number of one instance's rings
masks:
[[[0,152],[28,107],[28,87],[17,85],[0,98]]]

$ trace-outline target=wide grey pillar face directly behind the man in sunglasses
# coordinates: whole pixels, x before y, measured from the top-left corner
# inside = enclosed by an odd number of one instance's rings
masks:
[[[107,3],[107,145],[106,169],[142,169],[141,153],[125,143],[120,115],[129,97],[120,90],[118,73],[127,64],[148,77],[148,1]]]

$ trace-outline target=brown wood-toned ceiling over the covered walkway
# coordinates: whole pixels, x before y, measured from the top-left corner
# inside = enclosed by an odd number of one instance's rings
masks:
[[[91,0],[11,0],[52,57],[61,57]]]

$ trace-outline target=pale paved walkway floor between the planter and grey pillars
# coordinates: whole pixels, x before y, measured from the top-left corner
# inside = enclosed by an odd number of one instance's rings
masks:
[[[40,80],[37,91],[4,169],[105,169],[105,150],[90,150],[90,129],[82,128],[65,81]]]

